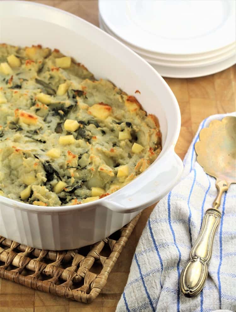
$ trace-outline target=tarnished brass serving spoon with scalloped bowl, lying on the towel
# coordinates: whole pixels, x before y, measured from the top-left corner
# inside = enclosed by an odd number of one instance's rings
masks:
[[[200,131],[199,139],[195,144],[197,161],[207,174],[216,178],[218,194],[213,208],[205,212],[200,233],[180,276],[180,289],[186,297],[195,296],[205,284],[213,240],[221,219],[218,209],[221,197],[231,183],[236,183],[236,117],[213,120],[209,128]]]

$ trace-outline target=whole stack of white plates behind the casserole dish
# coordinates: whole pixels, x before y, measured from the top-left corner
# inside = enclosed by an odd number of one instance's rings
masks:
[[[99,0],[99,23],[165,77],[236,63],[235,0]]]

